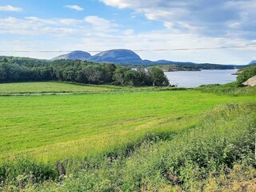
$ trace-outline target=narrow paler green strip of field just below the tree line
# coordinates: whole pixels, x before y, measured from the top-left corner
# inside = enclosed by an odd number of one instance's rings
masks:
[[[73,82],[12,82],[0,83],[0,96],[97,94],[106,92],[138,92],[154,90],[186,90],[176,87],[89,85]]]

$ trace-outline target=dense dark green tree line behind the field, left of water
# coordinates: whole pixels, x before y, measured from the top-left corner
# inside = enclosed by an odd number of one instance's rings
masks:
[[[80,60],[47,61],[0,57],[0,82],[65,81],[118,86],[169,86],[158,67],[129,69],[124,66]]]

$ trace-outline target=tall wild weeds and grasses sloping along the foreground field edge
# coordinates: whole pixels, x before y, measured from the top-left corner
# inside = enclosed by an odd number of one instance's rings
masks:
[[[6,164],[2,166],[1,175],[8,179],[2,190],[249,190],[255,187],[253,180],[256,176],[255,117],[254,103],[218,106],[206,113],[197,126],[178,132],[171,138],[151,137],[133,150],[126,148],[126,153],[120,151],[77,164],[66,162],[66,165],[62,164],[63,169],[70,172],[66,176],[55,177],[52,182],[43,182],[55,176],[46,166],[34,165],[35,170],[45,174],[42,178],[42,175],[25,168],[24,174],[8,174],[5,169],[10,166]],[[31,162],[15,164],[18,169],[24,165],[31,166]]]

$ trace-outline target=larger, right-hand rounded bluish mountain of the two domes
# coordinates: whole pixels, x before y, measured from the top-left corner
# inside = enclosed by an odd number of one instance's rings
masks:
[[[113,62],[116,64],[142,63],[142,58],[132,50],[106,50],[88,59],[91,62]]]

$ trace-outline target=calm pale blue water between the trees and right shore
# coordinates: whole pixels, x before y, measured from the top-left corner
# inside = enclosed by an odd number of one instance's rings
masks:
[[[166,72],[171,85],[193,88],[209,84],[225,84],[234,82],[237,78],[232,75],[238,70],[202,70]]]

